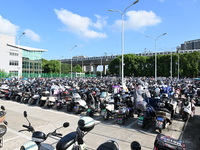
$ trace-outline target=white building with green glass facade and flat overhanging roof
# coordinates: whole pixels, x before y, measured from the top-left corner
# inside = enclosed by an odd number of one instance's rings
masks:
[[[42,73],[43,49],[36,49],[15,44],[15,37],[0,34],[0,70],[13,76],[30,76]]]

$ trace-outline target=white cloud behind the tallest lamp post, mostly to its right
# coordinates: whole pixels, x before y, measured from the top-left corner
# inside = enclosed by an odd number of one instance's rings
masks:
[[[148,26],[155,26],[161,23],[161,18],[152,11],[128,11],[127,20],[124,21],[126,30],[144,31]],[[116,27],[121,27],[121,20],[116,20]]]

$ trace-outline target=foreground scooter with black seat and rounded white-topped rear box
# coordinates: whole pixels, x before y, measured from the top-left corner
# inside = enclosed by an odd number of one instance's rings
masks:
[[[89,116],[84,116],[78,121],[76,131],[71,132],[61,138],[56,144],[56,150],[86,150],[83,137],[95,126],[94,120]]]

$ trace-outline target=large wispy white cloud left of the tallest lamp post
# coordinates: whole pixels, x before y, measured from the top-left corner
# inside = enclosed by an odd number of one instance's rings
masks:
[[[68,31],[76,33],[80,36],[86,38],[106,38],[105,33],[97,32],[92,28],[102,29],[106,24],[105,18],[102,18],[98,15],[97,22],[93,23],[92,20],[88,17],[82,17],[78,14],[74,14],[68,10],[54,9],[58,19],[65,25]]]

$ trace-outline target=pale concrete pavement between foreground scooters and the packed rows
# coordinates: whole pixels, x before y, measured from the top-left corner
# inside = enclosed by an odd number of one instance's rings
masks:
[[[45,133],[53,131],[56,127],[60,127],[64,122],[68,121],[70,126],[59,130],[59,132],[65,135],[76,129],[77,122],[80,118],[80,115],[66,113],[65,110],[44,109],[13,101],[1,100],[0,105],[5,106],[7,110],[6,120],[8,121],[8,131],[4,136],[2,150],[19,150],[21,145],[31,139],[31,133],[18,132],[23,129],[23,124],[27,124],[26,119],[23,117],[23,111],[27,111],[32,126],[36,130]],[[104,121],[98,114],[94,116],[94,119],[96,122],[94,129],[84,138],[89,149],[95,150],[98,145],[108,139],[118,141],[122,150],[128,150],[130,143],[135,140],[140,142],[143,150],[153,149],[157,132],[151,126],[147,126],[144,129],[138,127],[136,117],[130,118],[123,126],[117,125],[113,119]],[[163,133],[178,139],[182,133],[183,125],[184,123],[181,120],[176,119],[169,126],[169,130],[163,130]],[[57,138],[48,138],[45,143],[54,147],[57,141]],[[53,147],[50,149],[54,149]]]

